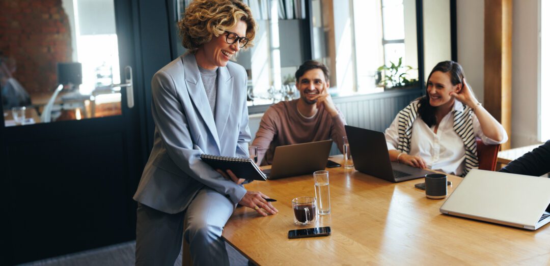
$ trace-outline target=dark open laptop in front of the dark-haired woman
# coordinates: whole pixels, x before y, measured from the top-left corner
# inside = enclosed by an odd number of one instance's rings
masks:
[[[401,182],[423,178],[431,171],[410,167],[389,160],[386,137],[382,132],[345,126],[348,135],[351,158],[357,171],[386,179],[391,182]]]

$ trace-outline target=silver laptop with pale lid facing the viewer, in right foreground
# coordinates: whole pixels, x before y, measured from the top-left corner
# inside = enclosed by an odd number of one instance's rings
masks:
[[[439,211],[537,230],[550,221],[549,203],[549,178],[472,169]]]

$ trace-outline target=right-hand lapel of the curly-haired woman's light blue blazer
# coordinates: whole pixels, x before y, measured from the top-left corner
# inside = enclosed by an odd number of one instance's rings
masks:
[[[216,129],[222,138],[233,102],[233,77],[227,67],[218,68],[218,91],[216,95]]]

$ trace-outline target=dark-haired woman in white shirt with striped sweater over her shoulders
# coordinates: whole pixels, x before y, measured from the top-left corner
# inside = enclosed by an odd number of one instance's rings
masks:
[[[386,130],[393,162],[459,176],[479,165],[476,137],[487,145],[508,140],[502,125],[466,84],[462,67],[453,61],[432,69],[426,96],[401,110]]]

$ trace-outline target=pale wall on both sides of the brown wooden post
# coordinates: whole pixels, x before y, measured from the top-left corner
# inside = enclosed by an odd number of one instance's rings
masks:
[[[537,1],[514,0],[511,146],[537,142]],[[483,13],[479,0],[456,1],[458,62],[476,97],[483,99]]]

